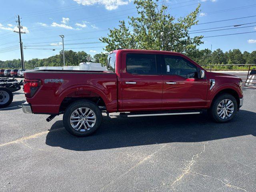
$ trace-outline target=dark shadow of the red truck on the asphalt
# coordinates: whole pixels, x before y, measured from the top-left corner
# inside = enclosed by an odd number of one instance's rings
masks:
[[[104,116],[101,127],[93,135],[84,138],[72,136],[63,128],[62,121],[57,121],[46,136],[46,144],[69,150],[90,151],[256,136],[256,113],[245,110],[240,110],[234,120],[226,124],[212,122],[206,113],[190,116],[111,117]]]

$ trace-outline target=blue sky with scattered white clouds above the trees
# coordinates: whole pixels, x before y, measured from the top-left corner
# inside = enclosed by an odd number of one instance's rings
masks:
[[[247,25],[238,26],[246,26],[245,28],[231,30],[196,31],[198,33],[191,34],[192,36],[256,31],[256,16],[201,24],[254,16],[255,0],[166,0],[165,4],[168,6],[168,12],[178,18],[192,12],[198,3],[201,3],[201,12],[198,16],[200,25],[193,26],[191,31],[238,24]],[[18,34],[13,32],[17,30],[14,17],[18,14],[22,18],[22,30],[26,31],[26,34],[22,34],[24,47],[27,48],[24,49],[25,60],[47,58],[58,54],[62,49],[62,40],[59,37],[61,34],[65,36],[65,50],[84,50],[93,56],[102,51],[104,44],[100,43],[98,38],[106,36],[108,28],[116,27],[118,20],[127,20],[128,15],[136,16],[133,0],[2,0],[1,4],[0,60],[20,58]],[[228,51],[239,48],[242,52],[252,52],[256,50],[256,33],[204,38],[204,44],[199,48],[210,49],[211,45],[212,50],[221,48]]]

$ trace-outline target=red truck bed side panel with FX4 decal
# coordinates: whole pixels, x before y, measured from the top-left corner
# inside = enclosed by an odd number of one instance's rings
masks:
[[[117,108],[117,75],[105,71],[36,70],[24,72],[24,81],[40,80],[31,98],[33,113],[58,114],[65,98],[102,98],[106,108]],[[47,103],[46,103],[47,101]]]

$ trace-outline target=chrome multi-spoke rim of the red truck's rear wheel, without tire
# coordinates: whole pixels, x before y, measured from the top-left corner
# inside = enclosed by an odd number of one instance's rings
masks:
[[[95,123],[95,112],[87,107],[80,107],[74,110],[70,116],[70,124],[76,131],[88,131],[95,125]]]

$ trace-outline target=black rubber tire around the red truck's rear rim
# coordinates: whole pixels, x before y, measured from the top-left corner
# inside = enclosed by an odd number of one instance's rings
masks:
[[[80,107],[86,107],[86,108],[91,109],[96,116],[96,122],[95,122],[94,126],[92,128],[90,128],[90,130],[86,130],[84,132],[75,130],[70,124],[70,116],[72,115],[74,110],[76,110]],[[77,137],[84,137],[84,136],[88,136],[88,135],[92,134],[100,127],[101,122],[102,122],[102,113],[100,111],[100,108],[95,103],[88,101],[88,100],[78,100],[78,101],[71,103],[66,108],[64,115],[63,115],[64,127],[70,134],[77,136]]]

